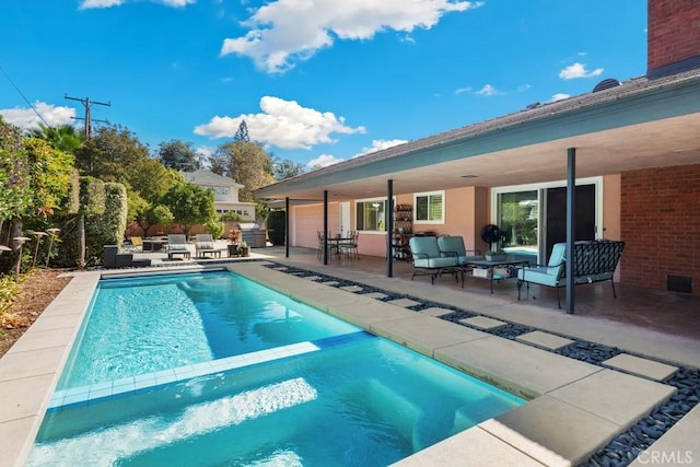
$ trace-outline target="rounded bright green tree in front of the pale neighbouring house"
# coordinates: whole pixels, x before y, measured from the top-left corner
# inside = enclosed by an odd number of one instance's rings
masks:
[[[192,225],[205,224],[215,215],[214,194],[191,184],[174,185],[163,196],[162,201],[171,210],[185,235],[189,235]]]

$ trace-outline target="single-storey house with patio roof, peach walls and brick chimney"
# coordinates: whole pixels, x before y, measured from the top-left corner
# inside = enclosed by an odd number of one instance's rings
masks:
[[[255,191],[289,206],[290,245],[358,230],[359,252],[392,258],[390,198],[412,233],[463,235],[546,261],[567,236],[626,242],[616,280],[700,293],[700,2],[649,0],[648,72],[590,93],[345,161]]]

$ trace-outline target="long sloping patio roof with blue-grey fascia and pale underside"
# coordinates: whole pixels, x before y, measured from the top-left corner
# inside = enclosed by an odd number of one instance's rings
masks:
[[[495,187],[700,162],[700,70],[619,85],[462,127],[255,190],[258,199],[329,201]]]

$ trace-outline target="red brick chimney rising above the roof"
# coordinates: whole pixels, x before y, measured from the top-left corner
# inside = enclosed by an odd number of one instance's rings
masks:
[[[649,0],[646,77],[700,68],[700,1]]]

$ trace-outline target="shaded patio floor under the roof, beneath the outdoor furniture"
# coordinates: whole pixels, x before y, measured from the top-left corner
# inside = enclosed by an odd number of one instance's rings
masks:
[[[312,269],[317,272],[362,281],[372,276],[386,279],[394,283],[396,290],[407,294],[424,290],[419,284],[430,285],[430,278],[416,277],[410,280],[412,266],[410,262],[395,261],[393,278],[387,275],[387,262],[384,258],[362,256],[361,259],[332,258],[325,266],[316,258],[316,250],[310,248],[291,248],[290,257],[284,258],[284,247],[258,248],[254,252],[273,256],[280,262],[300,268]],[[370,275],[370,276],[368,276]],[[378,278],[377,278],[378,279]],[[435,279],[435,293],[451,291],[464,293],[464,306],[469,308],[469,301],[478,297],[479,302],[491,302],[495,305],[525,305],[539,308],[553,316],[567,316],[564,310],[557,307],[556,290],[548,287],[532,284],[529,293],[523,287],[521,302],[517,301],[517,280],[501,280],[493,284],[493,295],[490,293],[489,281],[480,278],[466,277],[464,290],[453,277],[443,276]],[[666,292],[616,283],[617,299],[608,282],[579,285],[575,289],[575,315],[593,317],[622,325],[633,325],[644,329],[680,336],[700,341],[700,296],[678,292]],[[460,292],[459,292],[460,291]],[[563,297],[565,290],[560,290]],[[700,346],[700,343],[698,343]]]

